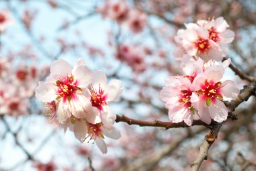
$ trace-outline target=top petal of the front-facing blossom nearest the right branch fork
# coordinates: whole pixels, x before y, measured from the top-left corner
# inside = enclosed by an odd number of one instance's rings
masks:
[[[215,82],[220,81],[224,75],[224,68],[222,65],[214,65],[205,69],[205,77]]]

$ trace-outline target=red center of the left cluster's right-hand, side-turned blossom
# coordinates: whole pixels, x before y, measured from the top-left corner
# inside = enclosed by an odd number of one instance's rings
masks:
[[[98,90],[94,89],[92,86],[90,88],[90,93],[91,93],[91,102],[92,106],[98,108],[100,111],[103,110],[103,106],[106,106],[106,94],[104,94],[104,90],[98,86]]]

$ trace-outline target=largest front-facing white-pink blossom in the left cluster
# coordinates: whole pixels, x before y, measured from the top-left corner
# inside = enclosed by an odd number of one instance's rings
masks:
[[[92,80],[92,73],[83,60],[75,67],[63,59],[51,65],[51,75],[36,88],[36,98],[44,103],[55,101],[56,116],[64,124],[74,118],[86,119],[90,123],[100,123],[98,109],[93,107],[87,88]]]

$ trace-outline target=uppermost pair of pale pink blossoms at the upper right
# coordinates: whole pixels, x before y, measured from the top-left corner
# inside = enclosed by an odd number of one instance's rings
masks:
[[[234,40],[234,32],[222,17],[212,20],[198,20],[197,24],[185,24],[175,37],[178,47],[173,55],[181,58],[184,54],[205,61],[221,61],[228,54],[227,44]]]

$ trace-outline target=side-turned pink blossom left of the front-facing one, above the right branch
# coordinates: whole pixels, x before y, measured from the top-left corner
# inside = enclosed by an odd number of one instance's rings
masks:
[[[193,119],[197,118],[195,108],[191,104],[191,95],[194,88],[190,79],[186,77],[169,77],[160,92],[160,99],[168,108],[170,121],[179,123],[184,121],[192,125]]]

